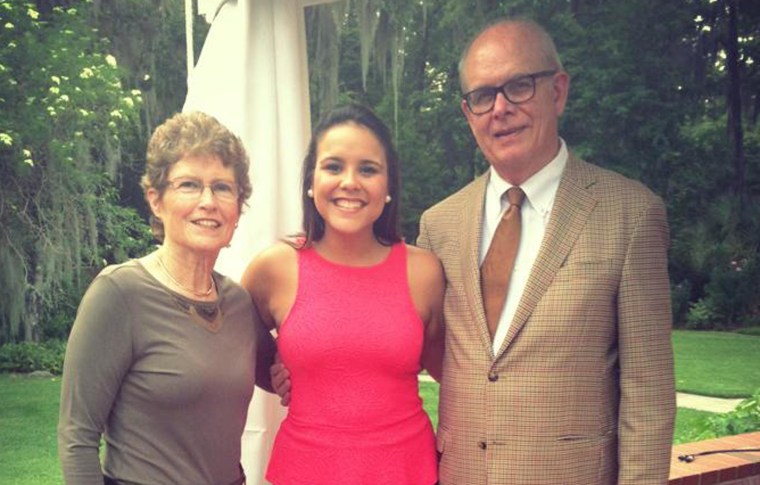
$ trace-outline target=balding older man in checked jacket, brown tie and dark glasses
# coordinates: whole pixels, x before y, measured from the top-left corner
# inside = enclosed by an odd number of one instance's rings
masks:
[[[662,200],[568,151],[569,76],[535,23],[481,31],[460,77],[490,168],[426,211],[418,240],[447,279],[441,484],[666,483]]]

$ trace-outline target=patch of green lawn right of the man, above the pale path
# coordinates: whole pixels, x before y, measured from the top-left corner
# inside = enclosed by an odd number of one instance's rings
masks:
[[[714,397],[749,397],[760,388],[760,336],[673,332],[676,389]]]

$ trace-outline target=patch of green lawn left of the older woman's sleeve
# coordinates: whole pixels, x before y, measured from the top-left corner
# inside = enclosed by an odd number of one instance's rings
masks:
[[[0,483],[62,483],[56,446],[60,378],[0,374]]]

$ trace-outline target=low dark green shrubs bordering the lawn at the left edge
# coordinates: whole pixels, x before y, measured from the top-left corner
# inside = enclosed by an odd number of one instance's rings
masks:
[[[20,342],[0,346],[0,372],[47,371],[59,375],[63,370],[66,342]]]

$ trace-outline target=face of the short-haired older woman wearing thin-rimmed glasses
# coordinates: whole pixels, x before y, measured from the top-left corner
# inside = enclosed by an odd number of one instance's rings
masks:
[[[148,189],[153,214],[164,224],[164,246],[218,253],[230,243],[240,218],[232,167],[216,156],[188,156],[175,163],[163,195]]]

